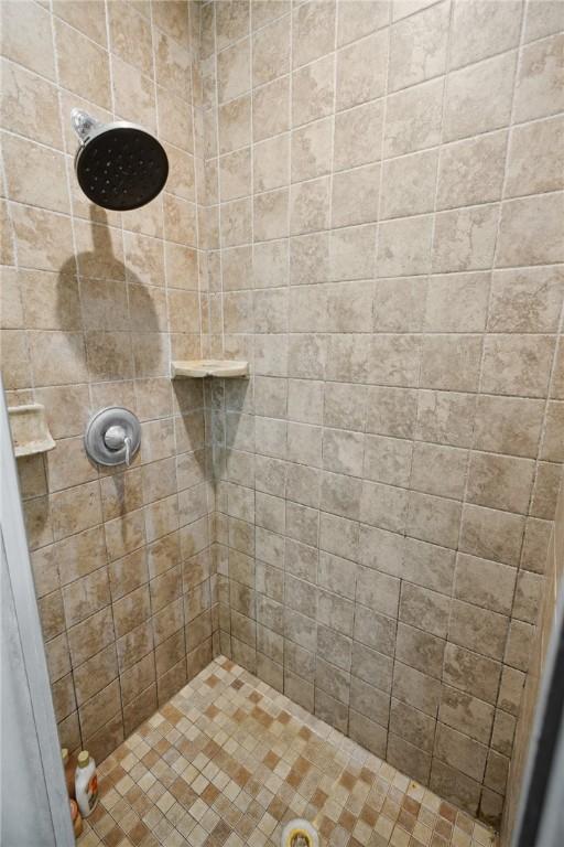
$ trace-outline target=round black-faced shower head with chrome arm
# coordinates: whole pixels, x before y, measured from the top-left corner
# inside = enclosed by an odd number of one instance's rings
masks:
[[[76,178],[93,203],[127,212],[144,206],[164,189],[169,159],[150,132],[124,120],[100,124],[80,109],[73,109],[70,118],[80,139]]]

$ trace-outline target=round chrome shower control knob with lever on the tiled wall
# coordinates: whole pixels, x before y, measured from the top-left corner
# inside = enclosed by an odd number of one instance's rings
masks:
[[[141,425],[129,409],[109,406],[97,411],[86,428],[85,448],[98,464],[131,464],[141,443]]]

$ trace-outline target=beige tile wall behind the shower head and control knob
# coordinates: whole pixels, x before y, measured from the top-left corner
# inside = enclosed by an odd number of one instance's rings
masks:
[[[199,355],[198,7],[3,2],[2,374],[10,404],[43,403],[57,447],[20,478],[61,742],[97,759],[212,658]],[[73,171],[74,106],[130,119],[166,147],[166,191],[105,213]],[[93,467],[89,415],[133,409],[133,467]]]

